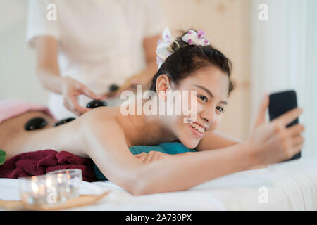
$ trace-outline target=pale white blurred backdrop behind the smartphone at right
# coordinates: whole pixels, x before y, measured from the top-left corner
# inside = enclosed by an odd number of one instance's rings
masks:
[[[258,19],[259,4],[268,6],[268,20]],[[264,90],[294,89],[304,108],[302,156],[317,158],[317,1],[253,0],[252,8],[251,112]]]

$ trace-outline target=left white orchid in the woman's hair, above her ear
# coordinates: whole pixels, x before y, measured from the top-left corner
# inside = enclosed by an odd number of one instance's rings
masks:
[[[157,43],[156,48],[156,63],[158,64],[158,70],[161,67],[161,65],[165,62],[166,58],[173,54],[173,52],[170,51],[170,44],[172,44],[176,38],[172,36],[170,33],[170,29],[168,27],[165,27],[163,34],[162,34],[163,40],[159,40]]]

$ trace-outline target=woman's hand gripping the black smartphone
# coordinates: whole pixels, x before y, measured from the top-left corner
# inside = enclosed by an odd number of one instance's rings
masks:
[[[294,108],[271,122],[266,122],[268,103],[268,94],[265,94],[246,142],[251,165],[282,162],[299,153],[304,145],[304,137],[301,136],[304,125],[286,127],[303,113],[303,109]]]

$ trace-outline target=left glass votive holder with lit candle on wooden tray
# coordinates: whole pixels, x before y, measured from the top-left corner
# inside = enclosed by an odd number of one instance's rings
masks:
[[[46,175],[19,178],[20,198],[27,205],[55,205],[65,202]]]

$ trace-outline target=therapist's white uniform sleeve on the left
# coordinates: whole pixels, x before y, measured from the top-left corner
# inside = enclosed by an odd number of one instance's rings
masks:
[[[30,46],[34,46],[35,37],[51,36],[59,39],[58,32],[58,8],[56,7],[56,20],[48,20],[47,14],[49,4],[55,4],[54,0],[29,0],[27,13],[27,34],[26,41]],[[56,4],[55,4],[56,5]]]

